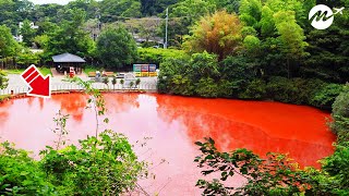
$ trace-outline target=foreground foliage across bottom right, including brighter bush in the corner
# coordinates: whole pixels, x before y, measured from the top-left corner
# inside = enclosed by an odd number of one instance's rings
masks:
[[[349,143],[337,146],[336,152],[322,160],[323,170],[300,169],[286,155],[268,152],[263,159],[248,149],[225,152],[217,150],[212,138],[195,143],[201,155],[195,158],[203,175],[217,176],[198,180],[202,195],[348,195]],[[233,175],[246,180],[242,186],[229,186]],[[209,177],[210,179],[210,177]]]

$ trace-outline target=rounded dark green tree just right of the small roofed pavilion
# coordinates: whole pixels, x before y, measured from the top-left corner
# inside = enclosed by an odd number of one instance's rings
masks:
[[[105,29],[98,37],[96,48],[98,58],[108,68],[131,64],[136,58],[136,49],[133,37],[123,26]]]

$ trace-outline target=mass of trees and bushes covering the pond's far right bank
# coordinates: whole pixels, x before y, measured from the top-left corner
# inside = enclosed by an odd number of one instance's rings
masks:
[[[349,76],[349,12],[317,30],[308,21],[315,3],[242,0],[238,13],[201,17],[185,36],[186,53],[160,64],[158,89],[330,109]],[[349,1],[327,4],[348,7]]]

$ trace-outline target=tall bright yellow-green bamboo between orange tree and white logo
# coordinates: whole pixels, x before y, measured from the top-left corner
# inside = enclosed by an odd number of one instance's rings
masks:
[[[306,54],[302,25],[310,4],[294,0],[241,0],[243,32],[255,30],[252,35],[260,39],[261,50],[253,58],[258,59],[266,75],[298,76],[300,62]]]

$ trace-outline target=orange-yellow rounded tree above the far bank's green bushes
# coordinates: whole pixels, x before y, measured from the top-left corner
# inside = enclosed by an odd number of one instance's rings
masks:
[[[241,46],[241,29],[242,24],[238,15],[219,11],[203,17],[193,27],[192,36],[188,37],[183,47],[190,52],[206,50],[216,53],[221,61]]]

